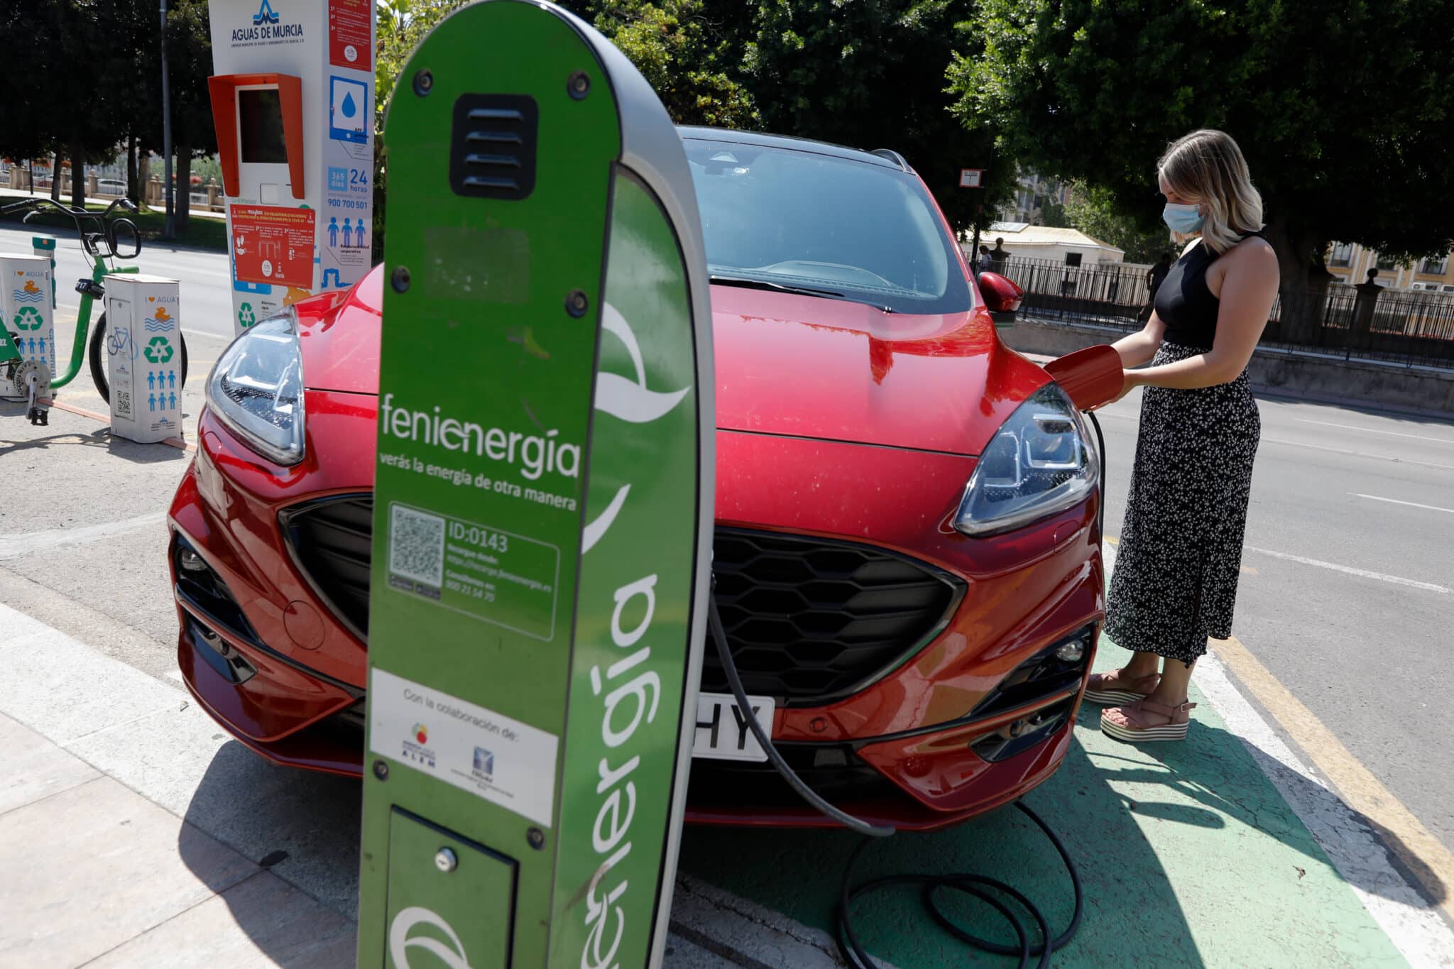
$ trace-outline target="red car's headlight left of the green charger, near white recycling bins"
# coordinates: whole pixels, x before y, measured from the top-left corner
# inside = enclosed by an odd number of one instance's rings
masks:
[[[302,461],[302,350],[289,307],[244,330],[206,378],[212,413],[279,465]]]

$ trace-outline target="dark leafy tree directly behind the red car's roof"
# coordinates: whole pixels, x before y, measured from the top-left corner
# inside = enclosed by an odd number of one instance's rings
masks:
[[[749,4],[743,4],[749,6]],[[987,126],[958,123],[945,73],[970,0],[760,0],[743,74],[769,131],[893,148],[957,230],[986,228],[1015,189],[1015,160]],[[986,169],[961,189],[960,169]]]

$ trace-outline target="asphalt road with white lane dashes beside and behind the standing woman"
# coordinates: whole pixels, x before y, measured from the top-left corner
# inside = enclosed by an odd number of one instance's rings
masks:
[[[1454,847],[1454,421],[1259,400],[1233,633]],[[1102,411],[1106,535],[1140,394]]]

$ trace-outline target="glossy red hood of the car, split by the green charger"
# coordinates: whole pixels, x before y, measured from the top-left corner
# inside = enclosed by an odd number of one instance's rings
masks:
[[[298,304],[308,389],[378,394],[382,273]],[[1048,376],[989,314],[885,314],[797,293],[712,286],[717,427],[979,455]]]

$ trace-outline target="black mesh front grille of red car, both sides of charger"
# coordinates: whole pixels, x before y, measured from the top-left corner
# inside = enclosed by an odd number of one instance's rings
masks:
[[[368,638],[374,498],[339,495],[286,508],[298,569],[333,613]],[[964,584],[884,549],[718,527],[717,607],[749,693],[785,706],[851,696],[912,657],[948,622]],[[727,693],[708,638],[701,689]]]

